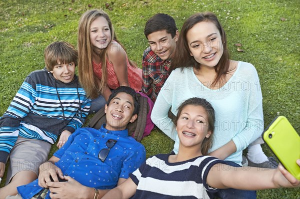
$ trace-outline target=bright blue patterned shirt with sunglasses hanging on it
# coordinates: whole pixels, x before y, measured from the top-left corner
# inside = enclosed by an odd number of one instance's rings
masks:
[[[117,140],[102,163],[98,159],[101,149],[109,139]],[[118,179],[129,177],[145,161],[145,149],[142,144],[128,136],[127,130],[108,131],[100,129],[80,128],[53,156],[59,158],[55,163],[63,173],[80,184],[96,189],[112,189]],[[22,198],[31,198],[42,188],[38,180],[17,188]],[[47,198],[46,198],[47,199]]]

